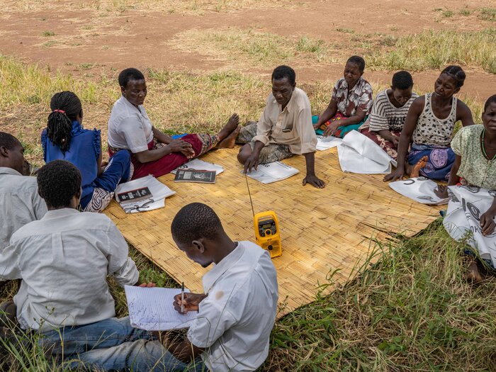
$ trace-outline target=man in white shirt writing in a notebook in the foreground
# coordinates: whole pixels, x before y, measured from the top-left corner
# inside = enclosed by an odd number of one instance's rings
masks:
[[[174,242],[203,267],[203,294],[175,297],[181,312],[198,310],[188,339],[139,340],[92,351],[96,368],[140,371],[255,371],[269,354],[277,312],[277,274],[268,252],[252,242],[233,242],[208,205],[192,203],[172,221]],[[178,290],[179,292],[179,290]]]

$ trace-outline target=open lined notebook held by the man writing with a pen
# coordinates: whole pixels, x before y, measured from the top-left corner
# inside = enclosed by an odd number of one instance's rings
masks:
[[[181,289],[125,286],[124,290],[129,319],[135,328],[147,331],[187,328],[198,317],[198,311],[180,314],[174,309],[174,296],[181,293]]]

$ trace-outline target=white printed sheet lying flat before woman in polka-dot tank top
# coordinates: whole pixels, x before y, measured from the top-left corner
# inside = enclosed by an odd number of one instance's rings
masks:
[[[425,177],[415,177],[389,183],[394,191],[422,204],[441,205],[447,204],[449,198],[441,199],[434,193],[436,182]]]

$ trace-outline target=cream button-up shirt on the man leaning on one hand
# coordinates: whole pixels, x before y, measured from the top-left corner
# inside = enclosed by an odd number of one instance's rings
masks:
[[[295,88],[284,110],[274,95],[270,94],[253,140],[265,146],[269,143],[288,145],[293,154],[315,152],[317,135],[312,126],[312,111],[307,94]]]

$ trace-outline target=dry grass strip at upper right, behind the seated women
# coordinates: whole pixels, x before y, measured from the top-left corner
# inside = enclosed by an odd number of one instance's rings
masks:
[[[474,32],[427,30],[395,38],[394,47],[378,48],[366,55],[366,60],[375,69],[424,71],[463,64],[496,74],[495,45],[494,28]]]

